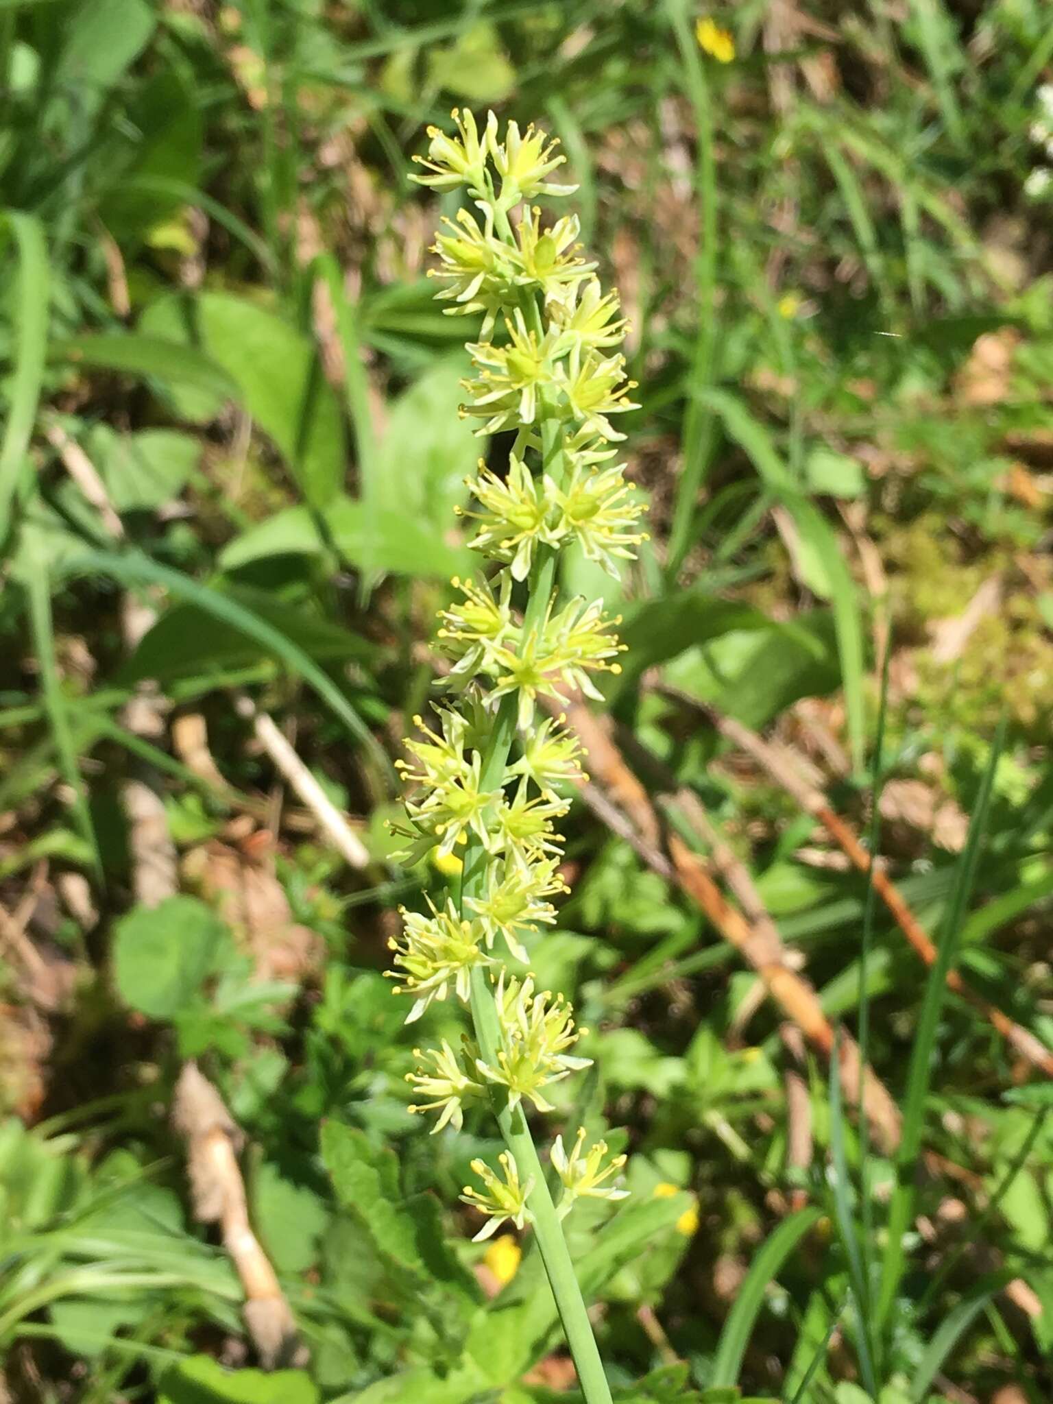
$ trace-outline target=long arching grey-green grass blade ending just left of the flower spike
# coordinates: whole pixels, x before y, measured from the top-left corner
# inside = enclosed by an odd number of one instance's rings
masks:
[[[358,716],[333,680],[314,663],[314,660],[293,643],[286,635],[253,614],[243,604],[230,600],[218,590],[199,584],[190,576],[178,570],[161,566],[140,552],[112,552],[86,550],[65,563],[66,574],[84,576],[101,574],[112,580],[119,580],[125,585],[161,585],[178,600],[206,609],[216,619],[240,629],[250,639],[256,639],[264,649],[274,653],[292,673],[299,674],[303,681],[314,689],[331,712],[344,723],[348,731],[357,737],[371,755],[383,767],[383,772],[390,775],[392,767],[386,753],[376,737]]]

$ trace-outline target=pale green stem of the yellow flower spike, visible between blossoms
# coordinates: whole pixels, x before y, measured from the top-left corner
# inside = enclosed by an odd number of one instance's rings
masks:
[[[556,482],[563,473],[563,437],[559,423],[549,417],[542,427],[542,469]],[[557,555],[545,548],[535,559],[529,580],[529,598],[524,612],[524,635],[536,628],[552,598],[556,583]],[[517,699],[514,694],[501,698],[494,717],[494,727],[482,757],[482,788],[496,789],[504,781],[512,740],[515,737]],[[465,868],[461,883],[461,900],[480,896],[486,887],[489,855],[476,841],[469,840],[465,852]],[[483,1061],[496,1067],[501,1047],[501,1025],[494,1004],[493,990],[486,972],[476,966],[472,970],[472,1022]],[[508,1105],[508,1094],[500,1087],[490,1091],[494,1116],[501,1127],[504,1143],[515,1158],[522,1182],[534,1181],[526,1205],[534,1219],[538,1248],[549,1278],[552,1296],[556,1302],[570,1353],[577,1367],[581,1393],[585,1404],[611,1404],[611,1389],[607,1383],[600,1349],[592,1335],[588,1311],[574,1272],[574,1264],[563,1237],[563,1228],[552,1202],[545,1171],[531,1136],[522,1105]]]

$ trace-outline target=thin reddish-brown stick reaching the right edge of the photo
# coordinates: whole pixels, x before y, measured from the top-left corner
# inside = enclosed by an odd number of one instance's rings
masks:
[[[823,824],[826,831],[834,842],[838,844],[849,862],[861,873],[870,873],[873,890],[887,907],[896,921],[896,925],[925,965],[932,966],[936,960],[936,948],[932,945],[925,928],[911,911],[903,893],[899,892],[880,865],[870,861],[869,852],[863,848],[852,826],[830,807],[830,802],[826,795],[802,779],[795,769],[790,757],[783,750],[765,741],[755,731],[751,731],[750,727],[743,726],[741,722],[723,716],[723,713],[716,712],[703,702],[699,702],[698,698],[688,696],[678,688],[670,688],[667,685],[663,685],[660,691],[678,702],[685,702],[695,710],[703,712],[722,736],[724,736],[739,750],[746,751],[747,755],[755,760],[776,785],[781,785],[807,814],[812,814],[813,819],[817,819],[819,823]],[[1050,1052],[1029,1029],[1016,1024],[1015,1019],[1011,1019],[1008,1014],[1004,1014],[995,1004],[991,1004],[981,994],[977,994],[976,990],[966,984],[958,970],[948,970],[946,983],[949,990],[953,990],[955,994],[972,1004],[974,1009],[979,1009],[979,1012],[983,1014],[983,1016],[998,1031],[998,1033],[1001,1033],[1005,1042],[1015,1049],[1022,1059],[1031,1063],[1032,1067],[1039,1068],[1039,1071],[1045,1073],[1047,1077],[1053,1077],[1053,1052]]]

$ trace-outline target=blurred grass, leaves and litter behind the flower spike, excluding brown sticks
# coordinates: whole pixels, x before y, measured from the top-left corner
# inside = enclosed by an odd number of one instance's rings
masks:
[[[901,1112],[868,1136],[712,903],[576,804],[531,959],[594,1031],[562,1113],[632,1153],[571,1228],[618,1397],[1047,1400],[1047,4],[3,0],[0,73],[3,1397],[574,1398],[529,1243],[451,1207],[489,1125],[407,1115],[382,977],[439,880],[392,861],[392,760],[507,453],[407,180],[459,102],[560,136],[632,320],[651,541],[623,600],[564,580],[625,614],[619,744]],[[734,723],[880,830],[935,974]],[[190,1060],[229,1116],[173,1127]]]

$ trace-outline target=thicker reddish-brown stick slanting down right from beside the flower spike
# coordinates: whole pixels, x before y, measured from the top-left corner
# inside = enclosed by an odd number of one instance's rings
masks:
[[[862,1077],[858,1046],[847,1033],[837,1038],[814,987],[789,967],[775,924],[769,921],[764,929],[751,925],[723,896],[705,862],[677,834],[665,831],[647,790],[625,764],[605,723],[577,702],[566,713],[567,724],[588,755],[587,764],[594,779],[581,786],[581,795],[590,809],[625,838],[649,868],[680,885],[720,935],[757,970],[771,997],[827,1060],[834,1047],[840,1047],[845,1095],[856,1104],[861,1094],[865,1095],[866,1115],[875,1134],[886,1151],[894,1150],[900,1141],[896,1104],[872,1070],[868,1068]],[[615,793],[622,797],[628,813],[611,799]]]

